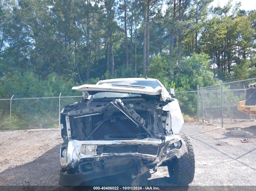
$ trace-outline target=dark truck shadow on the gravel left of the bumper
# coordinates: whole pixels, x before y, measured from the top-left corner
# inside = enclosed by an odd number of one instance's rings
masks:
[[[48,150],[34,161],[8,168],[0,173],[3,186],[58,185],[59,145]],[[17,151],[18,153],[18,151]],[[33,155],[33,153],[30,153]],[[10,156],[12,157],[12,156]]]

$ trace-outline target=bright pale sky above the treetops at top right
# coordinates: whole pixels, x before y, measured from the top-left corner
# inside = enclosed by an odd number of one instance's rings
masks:
[[[250,11],[253,9],[256,9],[256,1],[255,0],[233,0],[232,5],[235,5],[236,2],[241,2],[240,9],[244,9],[245,11]],[[220,5],[223,7],[225,4],[228,3],[228,0],[214,0],[211,5],[216,7],[217,5]]]

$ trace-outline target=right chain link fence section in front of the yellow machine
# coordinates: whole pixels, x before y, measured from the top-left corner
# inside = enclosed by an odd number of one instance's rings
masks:
[[[256,135],[256,78],[200,88],[202,120]]]

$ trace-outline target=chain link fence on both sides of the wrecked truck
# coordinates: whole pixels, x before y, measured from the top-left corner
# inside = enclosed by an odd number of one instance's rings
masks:
[[[256,135],[256,78],[175,92],[185,123],[204,122]],[[250,86],[254,84],[254,87]],[[249,86],[248,86],[249,85]],[[0,130],[57,128],[60,111],[82,96],[0,99]],[[246,101],[245,101],[246,100]],[[238,109],[239,105],[239,109]]]

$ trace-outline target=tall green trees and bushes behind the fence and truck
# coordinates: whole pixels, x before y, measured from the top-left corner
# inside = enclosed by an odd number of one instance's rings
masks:
[[[211,2],[2,0],[0,96],[145,75],[176,91],[254,77],[256,11]]]

